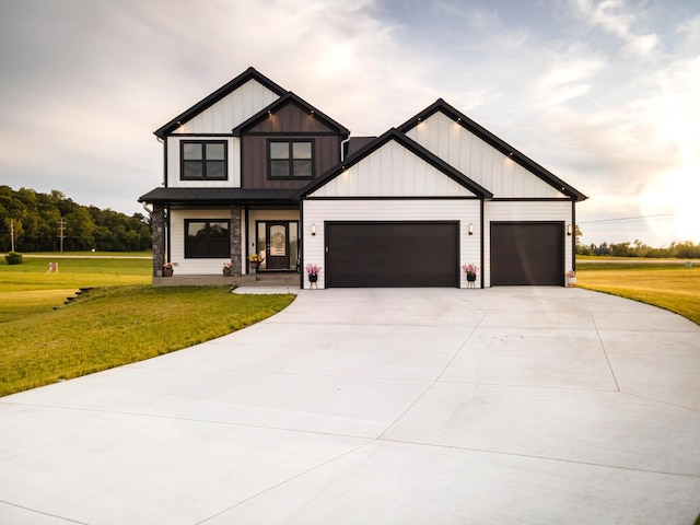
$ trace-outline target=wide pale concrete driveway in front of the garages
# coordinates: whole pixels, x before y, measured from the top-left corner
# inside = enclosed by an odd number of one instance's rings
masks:
[[[690,525],[699,377],[699,326],[585,290],[302,291],[0,398],[0,523]]]

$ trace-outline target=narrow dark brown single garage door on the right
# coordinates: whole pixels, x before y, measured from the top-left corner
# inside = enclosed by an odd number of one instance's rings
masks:
[[[563,223],[492,222],[491,285],[562,285]]]

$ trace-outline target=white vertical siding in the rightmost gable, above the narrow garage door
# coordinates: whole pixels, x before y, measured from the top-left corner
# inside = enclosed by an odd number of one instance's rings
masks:
[[[441,112],[416,125],[406,136],[488,188],[494,198],[565,198]]]

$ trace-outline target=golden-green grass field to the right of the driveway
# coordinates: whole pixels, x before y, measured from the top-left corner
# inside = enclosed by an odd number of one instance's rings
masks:
[[[628,259],[629,260],[629,259]],[[700,325],[700,267],[682,261],[578,265],[576,284],[669,310]]]

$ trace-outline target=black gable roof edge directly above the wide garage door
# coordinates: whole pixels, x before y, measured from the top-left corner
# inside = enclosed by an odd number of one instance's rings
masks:
[[[387,132],[385,132],[381,137],[377,137],[372,142],[368,143],[364,148],[360,149],[357,153],[350,155],[342,163],[338,164],[336,167],[326,172],[316,180],[310,183],[308,186],[306,186],[299,192],[299,197],[301,199],[306,198],[306,196],[308,196],[316,189],[320,188],[325,184],[329,183],[330,180],[332,180],[334,178],[342,174],[347,168],[359,163],[364,158],[377,151],[380,148],[382,148],[384,144],[386,144],[392,140],[396,141],[397,143],[399,143],[400,145],[409,150],[411,153],[413,153],[415,155],[422,159],[434,168],[439,170],[440,172],[442,172],[443,174],[445,174],[446,176],[455,180],[460,186],[464,186],[465,188],[474,192],[477,197],[480,197],[480,198],[493,197],[493,194],[491,194],[488,189],[479,186],[477,183],[466,177],[462,172],[458,172],[457,170],[452,167],[450,164],[444,162],[442,159],[435,156],[433,153],[431,153],[425,148],[420,145],[418,142],[406,137],[402,132],[398,131],[396,128],[389,129]]]

